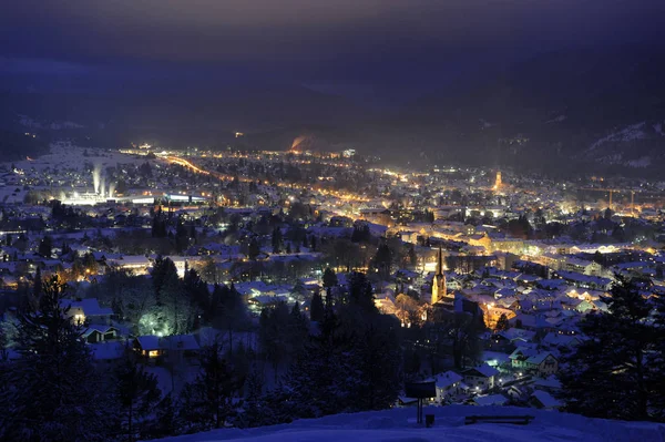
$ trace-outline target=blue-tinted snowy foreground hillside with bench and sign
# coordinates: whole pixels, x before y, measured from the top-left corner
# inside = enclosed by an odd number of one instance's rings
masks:
[[[589,419],[575,414],[511,407],[449,405],[430,408],[434,426],[415,423],[416,409],[393,409],[355,414],[336,414],[321,419],[299,420],[290,424],[250,430],[216,430],[167,438],[161,442],[426,442],[426,441],[638,441],[665,442],[665,424],[620,422]],[[466,415],[530,414],[528,425],[478,423],[464,425]]]

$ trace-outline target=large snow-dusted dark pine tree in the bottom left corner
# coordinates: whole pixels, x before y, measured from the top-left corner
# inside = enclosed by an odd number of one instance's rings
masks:
[[[81,335],[82,326],[62,307],[66,286],[58,277],[43,285],[39,311],[19,317],[20,359],[9,369],[11,388],[0,400],[0,439],[101,441],[106,439],[100,380]]]

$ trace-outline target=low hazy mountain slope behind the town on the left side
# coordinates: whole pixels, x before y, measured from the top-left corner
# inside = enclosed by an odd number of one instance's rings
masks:
[[[104,146],[151,140],[162,145],[225,145],[235,132],[347,124],[368,110],[306,88],[227,88],[206,93],[0,93],[0,129],[32,130]]]

